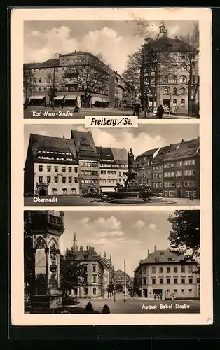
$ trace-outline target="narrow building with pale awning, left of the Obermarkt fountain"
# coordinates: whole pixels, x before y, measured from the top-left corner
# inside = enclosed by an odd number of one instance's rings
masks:
[[[99,156],[99,177],[102,193],[114,191],[117,184],[117,169],[110,147],[97,147]]]

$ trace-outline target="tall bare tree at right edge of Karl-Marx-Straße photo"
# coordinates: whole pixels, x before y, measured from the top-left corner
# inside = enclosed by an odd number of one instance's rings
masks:
[[[193,112],[195,106],[195,99],[199,93],[199,75],[197,74],[196,81],[193,81],[195,75],[196,65],[198,64],[199,54],[199,27],[198,24],[194,26],[193,32],[188,33],[187,36],[182,36],[181,41],[185,44],[184,62],[181,66],[188,72],[188,114]]]

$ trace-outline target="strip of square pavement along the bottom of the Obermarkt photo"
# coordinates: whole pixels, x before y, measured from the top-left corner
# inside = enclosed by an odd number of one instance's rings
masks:
[[[39,198],[39,200],[37,200]],[[46,202],[46,199],[49,199],[50,202]],[[57,200],[56,202],[53,201],[53,199]],[[42,202],[41,202],[42,200]],[[169,206],[169,205],[175,205],[175,206],[198,206],[200,204],[200,200],[189,200],[188,198],[171,198],[172,201],[169,202],[169,199],[167,199],[167,202],[160,202],[160,203],[143,203],[143,204],[130,204],[130,205],[138,205],[138,206]],[[126,205],[128,204],[114,204],[114,203],[106,203],[106,202],[99,202],[98,200],[92,199],[92,198],[85,198],[85,197],[24,197],[24,205],[26,206],[39,206],[39,205],[64,205],[64,206],[118,206],[118,205]]]

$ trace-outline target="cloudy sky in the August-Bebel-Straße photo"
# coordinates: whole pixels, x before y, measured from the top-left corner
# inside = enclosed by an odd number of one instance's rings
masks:
[[[73,245],[74,232],[78,248],[93,246],[97,253],[107,258],[111,255],[115,269],[133,276],[133,271],[147,251],[170,248],[167,240],[171,225],[167,221],[173,211],[64,211],[64,233],[60,238],[60,250]]]

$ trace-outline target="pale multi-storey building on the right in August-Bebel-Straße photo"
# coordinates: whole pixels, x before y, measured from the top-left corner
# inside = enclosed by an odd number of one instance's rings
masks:
[[[185,262],[169,250],[157,250],[140,260],[135,269],[135,290],[140,297],[191,298],[199,297],[197,286],[198,262]]]

